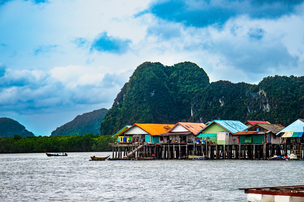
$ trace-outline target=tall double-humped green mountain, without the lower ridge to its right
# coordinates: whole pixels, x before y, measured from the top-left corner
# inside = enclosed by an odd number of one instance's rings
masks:
[[[101,135],[134,123],[171,123],[191,117],[191,99],[209,84],[206,72],[191,62],[138,66],[105,115]]]

